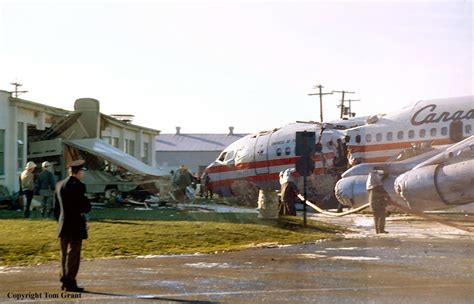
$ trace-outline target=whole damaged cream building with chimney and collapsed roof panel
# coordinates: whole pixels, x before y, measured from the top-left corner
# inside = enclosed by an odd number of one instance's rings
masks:
[[[62,178],[65,163],[79,150],[137,174],[159,176],[153,168],[158,134],[101,114],[95,99],[78,99],[69,111],[0,90],[0,185],[18,191],[18,176],[28,161],[38,167],[43,161],[53,162]]]

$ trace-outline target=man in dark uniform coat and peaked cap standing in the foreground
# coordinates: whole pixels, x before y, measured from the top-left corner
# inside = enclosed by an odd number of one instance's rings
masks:
[[[86,197],[83,160],[69,164],[69,177],[58,182],[54,191],[54,215],[58,221],[58,237],[61,243],[62,290],[81,292],[76,275],[79,271],[82,240],[87,239],[85,213],[91,210]]]

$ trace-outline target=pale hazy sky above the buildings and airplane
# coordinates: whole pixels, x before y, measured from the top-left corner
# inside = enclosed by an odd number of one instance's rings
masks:
[[[70,110],[93,97],[163,133],[318,121],[316,84],[355,91],[358,115],[473,94],[472,1],[0,3],[0,89]]]

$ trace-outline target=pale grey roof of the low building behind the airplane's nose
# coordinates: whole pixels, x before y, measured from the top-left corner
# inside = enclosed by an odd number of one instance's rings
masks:
[[[222,151],[247,134],[160,134],[156,151]]]

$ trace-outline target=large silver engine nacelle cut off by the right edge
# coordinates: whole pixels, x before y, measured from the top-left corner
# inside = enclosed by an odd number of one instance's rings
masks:
[[[474,159],[435,164],[405,172],[395,191],[411,208],[434,210],[474,201]]]

